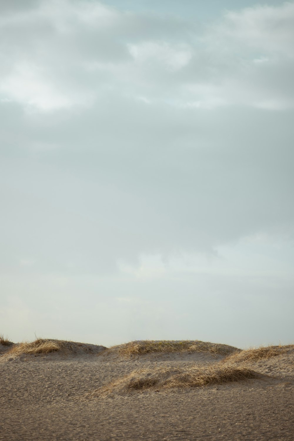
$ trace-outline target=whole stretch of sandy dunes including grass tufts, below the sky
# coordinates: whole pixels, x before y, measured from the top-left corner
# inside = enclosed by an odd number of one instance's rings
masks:
[[[0,440],[292,440],[294,345],[0,343]]]

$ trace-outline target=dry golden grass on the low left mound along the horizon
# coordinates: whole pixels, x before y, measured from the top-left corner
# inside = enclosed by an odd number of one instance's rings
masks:
[[[64,340],[50,340],[37,338],[32,342],[17,343],[7,351],[7,355],[22,355],[22,354],[49,354],[50,352],[63,352],[65,354],[77,353],[79,351],[85,351],[85,348],[81,343],[74,343],[72,341]]]

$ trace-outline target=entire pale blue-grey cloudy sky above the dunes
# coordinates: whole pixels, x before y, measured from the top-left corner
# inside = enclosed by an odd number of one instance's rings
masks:
[[[0,0],[0,333],[294,342],[294,2]]]

